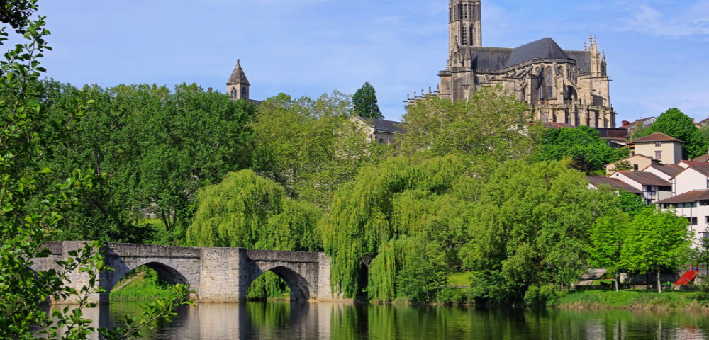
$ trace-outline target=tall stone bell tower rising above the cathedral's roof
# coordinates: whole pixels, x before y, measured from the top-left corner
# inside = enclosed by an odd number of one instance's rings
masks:
[[[449,52],[456,45],[482,46],[480,0],[451,0],[448,4]]]

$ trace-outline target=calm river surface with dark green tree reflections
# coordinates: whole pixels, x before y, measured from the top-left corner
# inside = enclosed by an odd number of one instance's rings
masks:
[[[101,327],[138,315],[114,302],[87,316]],[[248,302],[182,307],[145,339],[709,339],[709,314],[625,310],[479,310],[474,307]]]

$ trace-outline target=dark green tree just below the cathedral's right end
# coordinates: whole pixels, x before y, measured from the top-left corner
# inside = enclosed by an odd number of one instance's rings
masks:
[[[573,169],[588,174],[603,171],[605,164],[627,157],[627,149],[613,149],[599,136],[596,129],[588,126],[548,129],[542,136],[542,148],[537,161],[571,158]]]

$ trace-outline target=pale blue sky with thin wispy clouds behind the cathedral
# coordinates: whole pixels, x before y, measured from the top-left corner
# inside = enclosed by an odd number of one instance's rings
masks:
[[[40,0],[48,77],[74,86],[196,83],[225,92],[236,60],[250,97],[353,94],[371,82],[389,120],[438,83],[447,0]],[[709,118],[709,0],[482,0],[483,45],[598,37],[616,119],[671,107]]]

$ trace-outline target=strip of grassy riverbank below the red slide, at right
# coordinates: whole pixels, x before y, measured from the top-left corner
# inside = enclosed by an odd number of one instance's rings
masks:
[[[576,290],[559,298],[554,307],[614,308],[637,310],[702,310],[696,292],[667,290]]]

